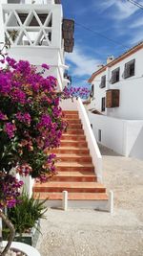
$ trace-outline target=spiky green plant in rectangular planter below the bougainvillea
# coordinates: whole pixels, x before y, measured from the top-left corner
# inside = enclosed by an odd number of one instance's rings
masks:
[[[15,228],[15,242],[22,242],[35,246],[40,233],[40,220],[45,218],[47,199],[29,198],[26,192],[18,198],[20,203],[16,203],[13,208],[8,209],[7,216]],[[3,225],[3,238],[8,240],[10,230]]]

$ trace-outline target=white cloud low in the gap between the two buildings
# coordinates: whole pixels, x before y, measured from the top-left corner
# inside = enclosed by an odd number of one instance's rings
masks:
[[[84,52],[79,49],[79,46],[74,47],[73,53],[67,54],[66,59],[73,64],[72,75],[79,77],[91,76],[92,72],[97,69],[97,65],[100,63],[99,59],[85,55]]]

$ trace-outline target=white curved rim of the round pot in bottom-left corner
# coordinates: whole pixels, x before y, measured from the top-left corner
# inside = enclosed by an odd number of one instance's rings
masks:
[[[7,243],[8,243],[7,241],[3,241],[2,246],[6,246]],[[20,250],[25,254],[27,254],[27,256],[41,256],[40,253],[29,244],[12,242],[12,244],[10,245],[10,248]]]

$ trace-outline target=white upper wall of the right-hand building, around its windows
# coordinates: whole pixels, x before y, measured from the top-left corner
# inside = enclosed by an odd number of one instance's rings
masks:
[[[128,79],[123,79],[125,63],[135,58],[135,75]],[[132,56],[123,59],[111,68],[108,67],[106,71],[95,77],[92,83],[94,84],[95,100],[89,105],[89,108],[94,107],[101,111],[101,98],[106,96],[107,89],[120,90],[120,105],[119,107],[107,108],[105,112],[108,116],[129,120],[143,120],[143,49],[134,53]],[[114,84],[110,83],[112,78],[112,70],[120,67],[120,81]],[[99,88],[101,77],[106,75],[106,88]]]

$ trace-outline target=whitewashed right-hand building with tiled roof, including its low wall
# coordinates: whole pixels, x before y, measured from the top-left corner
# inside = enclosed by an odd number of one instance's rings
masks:
[[[143,159],[143,42],[118,58],[108,58],[89,82],[89,116],[98,142]]]

